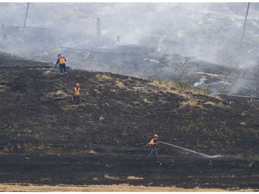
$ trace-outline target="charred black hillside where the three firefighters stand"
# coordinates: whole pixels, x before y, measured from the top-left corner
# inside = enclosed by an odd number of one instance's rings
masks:
[[[0,182],[258,191],[258,99],[223,99],[1,53]],[[71,103],[75,83],[81,104]],[[195,105],[183,106],[194,101]],[[146,144],[160,141],[160,163]]]

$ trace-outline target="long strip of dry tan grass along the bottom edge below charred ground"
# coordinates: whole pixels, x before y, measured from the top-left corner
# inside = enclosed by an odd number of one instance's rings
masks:
[[[175,186],[131,186],[128,184],[114,185],[57,185],[57,186],[37,186],[32,184],[0,184],[0,191],[3,192],[252,192],[253,189],[220,189],[220,188],[177,188]]]

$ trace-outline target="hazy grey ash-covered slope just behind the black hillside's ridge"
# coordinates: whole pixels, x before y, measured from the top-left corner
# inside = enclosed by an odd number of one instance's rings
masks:
[[[173,43],[171,44],[173,46]],[[259,96],[257,76],[259,69],[256,62],[248,65],[240,61],[239,66],[235,66],[231,63],[234,61],[233,56],[227,56],[226,53],[222,53],[221,59],[224,61],[222,65],[202,61],[196,57],[173,54],[174,52],[160,52],[145,46],[115,45],[111,48],[82,46],[62,48],[62,50],[72,68],[113,72],[149,80],[160,78],[164,81],[188,81],[197,88],[207,88],[212,95],[245,95],[256,98]],[[245,53],[244,50],[249,50],[249,47],[239,50],[240,58],[244,57],[241,54]],[[52,50],[47,52],[51,53]],[[36,58],[51,61],[46,55]],[[248,58],[252,61],[251,56],[243,60],[248,63]]]

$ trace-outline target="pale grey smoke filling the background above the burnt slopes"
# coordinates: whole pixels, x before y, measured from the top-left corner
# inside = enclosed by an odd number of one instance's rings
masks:
[[[57,52],[69,54],[64,47],[115,48],[113,41],[119,36],[117,45],[155,48],[160,57],[195,57],[244,71],[258,64],[259,3],[250,5],[242,45],[247,3],[29,3],[26,29],[21,36],[26,7],[27,3],[0,3],[1,51],[55,61]],[[101,37],[97,37],[97,18],[101,19]],[[87,59],[90,57],[93,58],[88,53]],[[126,61],[116,60],[117,64]],[[153,69],[175,68],[177,60],[174,60],[163,61]],[[134,66],[137,65],[135,62]],[[233,92],[246,88],[244,79],[251,75],[246,73],[242,79],[235,78]],[[202,86],[204,80],[197,79],[194,83]]]

